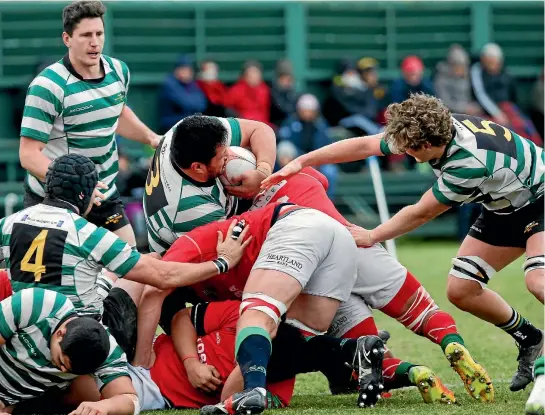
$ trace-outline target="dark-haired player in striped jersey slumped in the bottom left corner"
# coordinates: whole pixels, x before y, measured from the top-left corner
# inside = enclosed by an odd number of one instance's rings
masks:
[[[73,415],[138,413],[123,351],[99,322],[79,317],[64,295],[22,290],[0,302],[0,322],[1,415],[58,388],[70,392],[70,382],[86,374],[96,376],[105,399],[83,402]]]

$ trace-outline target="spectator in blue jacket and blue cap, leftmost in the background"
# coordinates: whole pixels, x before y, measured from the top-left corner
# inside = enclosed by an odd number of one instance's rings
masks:
[[[206,97],[195,82],[193,61],[181,56],[159,93],[161,132],[165,133],[182,118],[205,110]]]

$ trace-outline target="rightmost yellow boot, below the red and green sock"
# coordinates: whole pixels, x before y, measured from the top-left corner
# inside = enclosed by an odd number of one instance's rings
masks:
[[[469,351],[460,343],[450,343],[445,348],[445,356],[462,382],[466,391],[482,402],[494,401],[494,386],[484,367],[478,364]]]

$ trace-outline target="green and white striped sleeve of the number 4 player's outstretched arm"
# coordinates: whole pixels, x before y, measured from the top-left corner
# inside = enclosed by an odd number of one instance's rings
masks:
[[[74,215],[78,229],[79,246],[76,255],[105,267],[118,277],[123,277],[136,265],[140,253],[115,233],[104,228],[98,228],[87,220]],[[72,255],[74,255],[72,253]]]

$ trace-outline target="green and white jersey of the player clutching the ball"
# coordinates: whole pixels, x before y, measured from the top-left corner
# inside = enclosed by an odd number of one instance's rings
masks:
[[[240,123],[234,118],[218,119],[227,129],[227,146],[240,146]],[[150,250],[159,254],[184,233],[225,219],[237,208],[237,198],[227,195],[219,179],[198,183],[172,165],[170,143],[176,125],[155,150],[144,194],[148,242]]]

